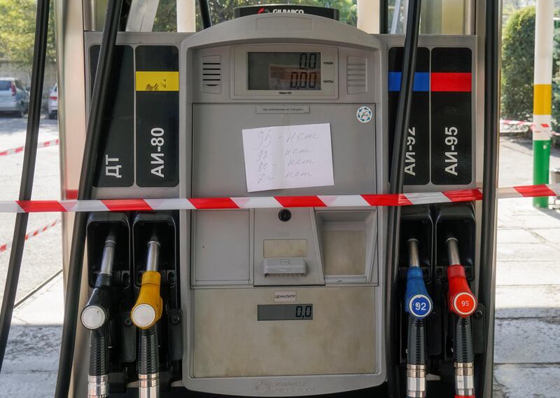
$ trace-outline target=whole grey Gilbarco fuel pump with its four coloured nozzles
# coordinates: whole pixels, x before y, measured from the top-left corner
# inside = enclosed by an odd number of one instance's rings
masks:
[[[116,3],[109,2],[108,22],[116,20]],[[86,88],[84,96],[92,98],[88,143],[94,144],[92,153],[86,153],[85,171],[95,178],[84,174],[80,199],[91,193],[103,200],[145,198],[148,204],[124,210],[139,211],[141,222],[132,228],[136,260],[129,270],[134,282],[130,300],[121,305],[125,311],[120,327],[124,331],[122,324],[129,321],[130,326],[132,321],[139,338],[127,335],[130,338],[115,343],[118,347],[134,341],[134,355],[121,361],[124,366],[114,366],[114,373],[126,369],[133,380],[138,373],[140,397],[306,396],[366,389],[368,394],[400,397],[404,345],[407,396],[426,397],[426,387],[432,393],[432,387],[440,385],[451,392],[451,350],[442,350],[443,341],[451,342],[451,331],[442,318],[436,320],[445,306],[442,291],[447,287],[444,273],[437,271],[447,260],[437,263],[438,268],[431,254],[433,242],[444,246],[445,240],[400,228],[396,203],[372,205],[367,194],[478,186],[475,149],[482,129],[474,126],[474,109],[482,81],[475,69],[481,64],[482,47],[474,36],[419,37],[420,1],[411,5],[405,40],[295,13],[263,12],[210,27],[205,1],[204,26],[210,28],[193,35],[122,32],[115,38],[111,32],[115,34],[116,22],[106,24],[103,38],[99,32],[83,34],[86,81],[97,83]],[[116,57],[111,62],[113,50]],[[103,113],[101,82],[108,68],[115,84],[108,85],[113,102],[106,106],[113,113],[105,118],[106,135],[96,137],[95,123]],[[464,84],[442,84],[457,76]],[[426,108],[416,107],[412,97],[421,98]],[[442,111],[442,104],[451,110]],[[407,109],[417,114],[408,115]],[[387,115],[393,111],[398,117],[391,126]],[[458,113],[464,116],[462,124],[449,128]],[[300,137],[310,126],[314,134]],[[292,130],[297,134],[286,136]],[[451,177],[458,165],[446,171],[449,165],[442,156],[450,156],[446,153],[451,142],[442,136],[446,131],[461,140],[453,141],[461,150],[461,179]],[[255,178],[257,169],[249,160],[260,155],[251,140],[259,133],[263,138],[263,132],[271,134],[269,153],[281,160],[276,163],[307,167],[317,164],[316,157],[321,173],[332,174],[332,179],[325,179],[328,184],[322,179],[293,183],[295,177],[314,175],[303,168]],[[318,144],[309,144],[309,151],[292,148],[287,137],[317,139],[321,150]],[[414,170],[422,173],[407,177]],[[272,180],[274,184],[267,185]],[[274,200],[260,198],[263,195]],[[321,201],[338,195],[361,195],[359,203],[351,204],[358,209],[322,208]],[[317,197],[316,207],[300,205],[300,196]],[[170,221],[165,221],[167,231],[148,226],[163,225],[162,219],[154,218],[162,211],[148,207],[160,199],[179,203],[185,198],[195,203],[192,210],[166,207],[172,210]],[[410,204],[399,198],[399,205]],[[370,206],[362,208],[363,200]],[[283,208],[280,214],[277,202]],[[136,206],[137,201],[131,203]],[[209,203],[220,203],[228,211],[214,205],[204,209]],[[428,218],[435,211],[437,207],[426,207]],[[126,216],[132,221],[132,214]],[[71,304],[77,302],[80,289],[81,229],[71,250],[70,310],[57,397],[67,395],[73,357]],[[465,247],[475,247],[474,239],[454,236]],[[120,245],[120,235],[117,238]],[[422,253],[426,247],[428,262]],[[462,252],[461,257],[468,271],[479,267],[469,265]],[[468,284],[458,259],[450,263],[449,291],[456,292],[449,301],[457,315],[456,393],[465,397],[474,391],[472,352],[480,353],[472,349],[469,324],[476,300],[472,294],[465,298]],[[406,271],[402,278],[399,267]],[[423,280],[425,270],[433,301]],[[406,291],[399,283],[405,273]],[[461,277],[464,283],[459,283]],[[400,317],[403,293],[407,315]],[[480,292],[482,303],[489,302],[484,296],[488,294],[489,289]],[[469,311],[462,308],[466,303]],[[426,320],[433,308],[433,317]],[[104,313],[99,314],[93,315]],[[99,323],[87,321],[90,326]],[[476,317],[472,322],[478,336]],[[128,330],[133,335],[134,327]],[[400,334],[400,329],[407,330]],[[477,344],[479,338],[475,348]],[[110,353],[113,366],[116,356]],[[434,383],[426,382],[428,365]],[[482,369],[477,362],[477,371]],[[76,373],[76,378],[84,376]],[[477,376],[477,381],[485,379]],[[122,386],[121,392],[130,396],[135,384],[126,379]],[[113,387],[111,373],[112,391]]]

